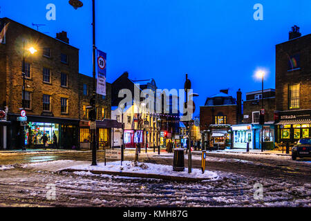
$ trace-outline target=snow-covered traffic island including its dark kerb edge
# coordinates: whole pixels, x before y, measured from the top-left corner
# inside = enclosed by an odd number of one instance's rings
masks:
[[[192,169],[191,173],[188,173],[187,169],[182,172],[173,171],[173,166],[167,166],[162,164],[140,163],[134,161],[124,161],[122,166],[120,161],[100,163],[97,166],[91,166],[90,164],[82,164],[77,166],[70,166],[66,169],[59,171],[66,172],[79,172],[85,171],[93,174],[106,174],[106,175],[118,175],[126,177],[144,177],[163,179],[171,181],[207,181],[218,179],[217,173],[211,171],[205,171],[202,173],[200,169]]]

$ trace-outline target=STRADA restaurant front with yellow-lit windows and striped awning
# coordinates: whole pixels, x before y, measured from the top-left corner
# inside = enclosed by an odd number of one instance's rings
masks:
[[[291,146],[301,138],[311,137],[311,110],[279,112],[276,117],[278,143]]]

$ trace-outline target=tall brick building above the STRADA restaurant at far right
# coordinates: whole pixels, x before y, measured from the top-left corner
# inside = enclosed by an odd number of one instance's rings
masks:
[[[292,27],[289,41],[276,45],[276,142],[311,137],[311,34]]]

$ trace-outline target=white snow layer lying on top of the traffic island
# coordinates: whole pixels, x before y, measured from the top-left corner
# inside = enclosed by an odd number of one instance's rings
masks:
[[[200,169],[192,169],[192,173],[188,173],[187,169],[182,172],[173,171],[173,166],[167,166],[162,164],[151,164],[151,163],[139,163],[124,161],[124,166],[120,166],[120,162],[107,162],[106,166],[104,163],[100,163],[97,166],[90,166],[89,164],[70,166],[66,169],[83,170],[83,171],[109,171],[119,173],[144,173],[154,175],[167,175],[176,177],[194,177],[200,179],[217,179],[217,173],[211,171],[205,171],[202,174]]]

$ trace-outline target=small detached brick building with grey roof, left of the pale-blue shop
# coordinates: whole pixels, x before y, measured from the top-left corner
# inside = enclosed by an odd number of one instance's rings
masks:
[[[241,96],[241,90],[237,92],[237,99],[229,96],[228,90],[220,90],[217,95],[207,97],[205,106],[200,106],[202,140],[211,140],[222,148],[231,145],[231,126],[241,123]]]

